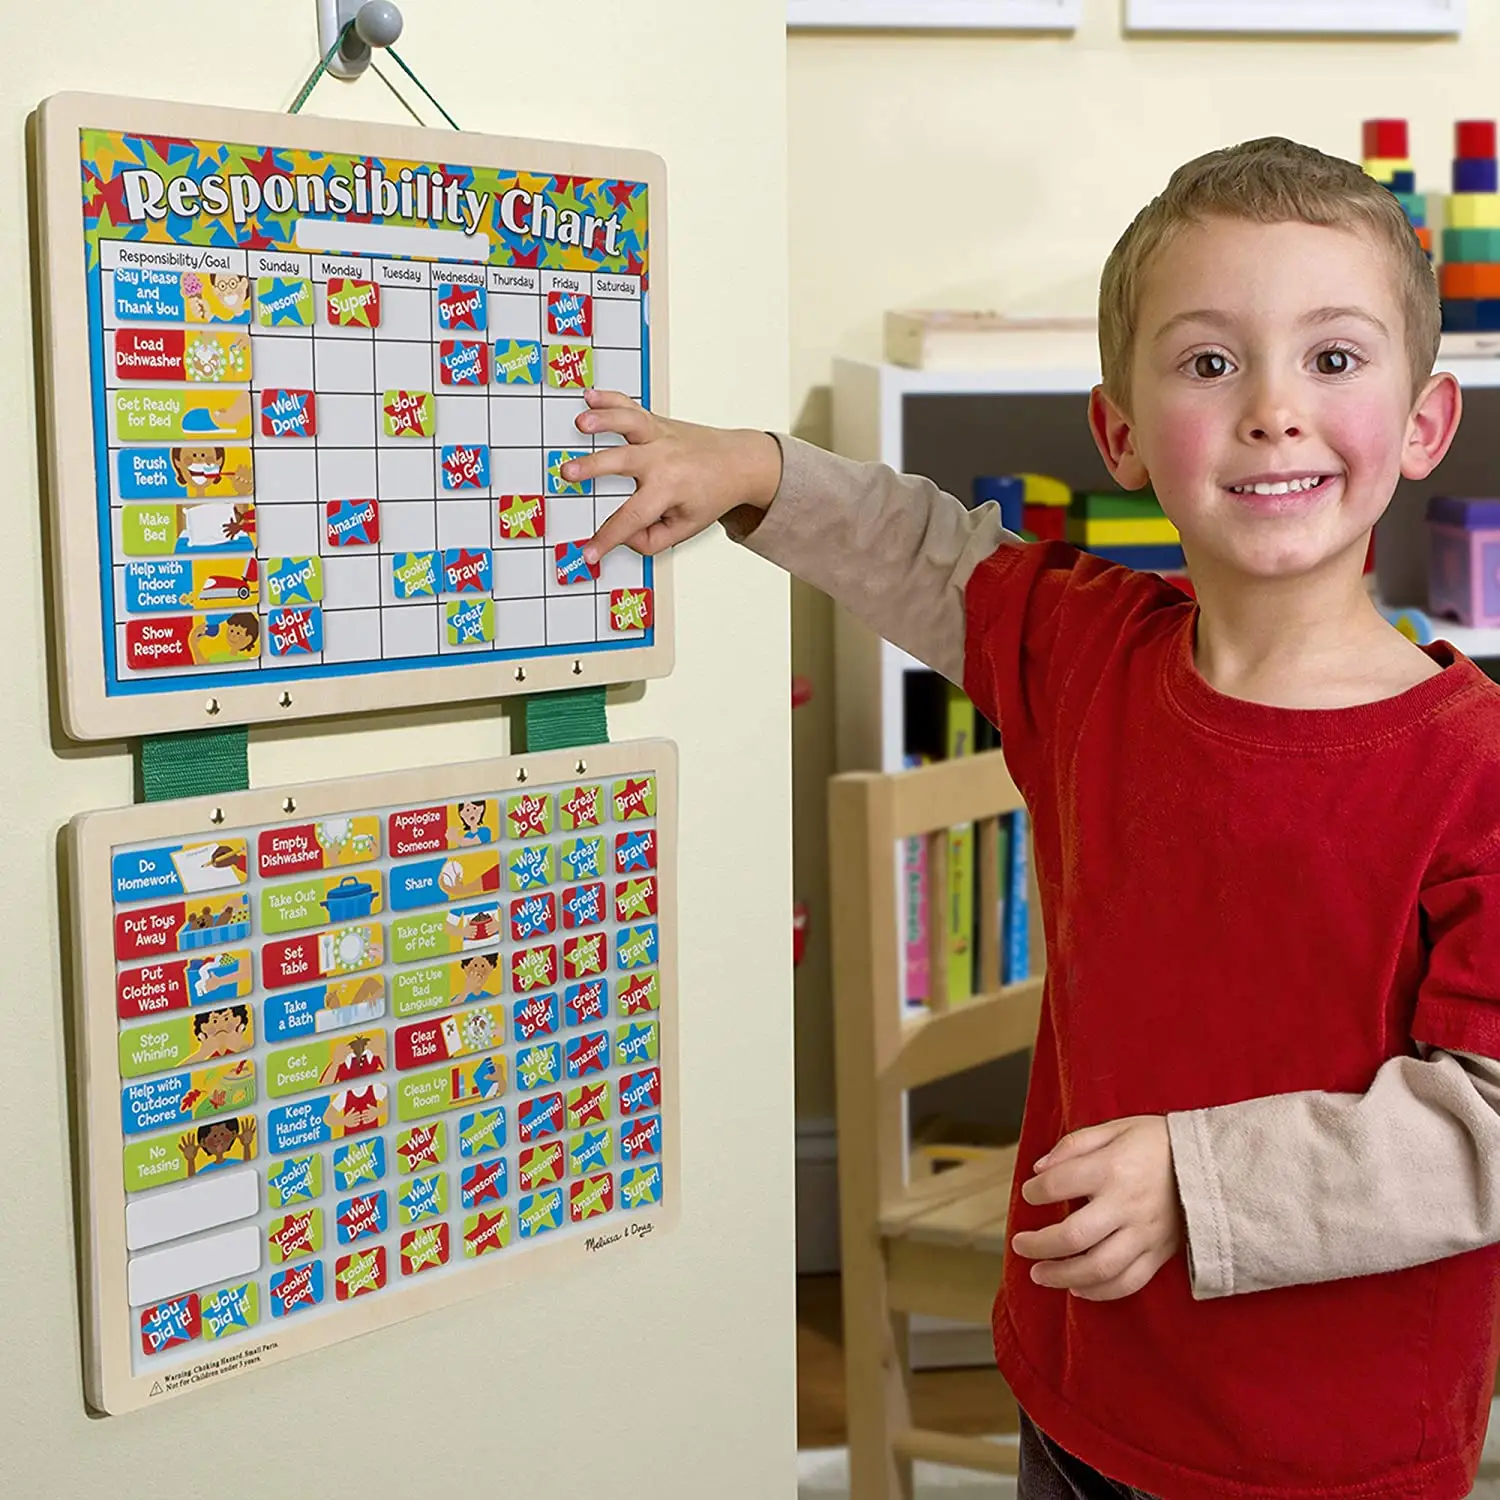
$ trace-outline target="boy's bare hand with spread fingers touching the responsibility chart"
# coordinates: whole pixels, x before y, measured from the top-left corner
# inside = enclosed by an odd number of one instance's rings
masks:
[[[740,506],[765,510],[782,483],[782,448],[768,432],[699,428],[646,411],[616,390],[586,392],[579,432],[614,432],[622,444],[562,465],[568,480],[626,474],[636,492],[588,543],[590,566],[624,544],[656,554],[706,530]]]

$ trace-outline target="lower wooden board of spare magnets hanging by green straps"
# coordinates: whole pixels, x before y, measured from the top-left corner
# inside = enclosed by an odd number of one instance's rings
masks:
[[[675,786],[640,741],[74,820],[94,1407],[675,1218]]]

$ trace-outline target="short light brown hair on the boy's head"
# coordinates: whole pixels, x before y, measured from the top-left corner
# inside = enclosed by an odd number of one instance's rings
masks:
[[[1150,262],[1184,225],[1214,218],[1317,224],[1383,244],[1396,273],[1416,396],[1437,360],[1442,309],[1412,222],[1395,195],[1353,162],[1269,135],[1179,166],[1110,250],[1100,278],[1100,362],[1113,400],[1130,402],[1140,292]]]

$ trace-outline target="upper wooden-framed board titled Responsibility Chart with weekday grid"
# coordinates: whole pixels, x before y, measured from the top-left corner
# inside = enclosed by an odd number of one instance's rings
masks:
[[[60,94],[39,225],[62,710],[129,738],[634,681],[670,560],[582,543],[662,406],[644,152]]]

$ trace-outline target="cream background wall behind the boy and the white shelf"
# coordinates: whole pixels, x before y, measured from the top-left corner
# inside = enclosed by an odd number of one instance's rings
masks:
[[[1359,154],[1366,117],[1412,122],[1422,190],[1446,192],[1452,123],[1494,118],[1500,10],[1461,42],[1125,39],[1124,0],[1070,38],[794,33],[788,44],[792,412],[828,442],[836,356],[878,358],[888,308],[1090,314],[1098,272],[1179,162],[1257,135]],[[830,606],[792,594],[795,879],[814,902],[796,975],[796,1107],[832,1113],[824,783]]]

